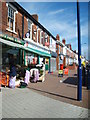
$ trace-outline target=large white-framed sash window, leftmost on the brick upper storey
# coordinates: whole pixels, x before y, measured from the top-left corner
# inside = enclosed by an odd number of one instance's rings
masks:
[[[8,28],[14,30],[14,9],[8,6]]]

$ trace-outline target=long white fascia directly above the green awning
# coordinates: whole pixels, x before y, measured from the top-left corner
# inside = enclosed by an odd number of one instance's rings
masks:
[[[25,42],[24,46],[27,48],[34,48],[35,50],[39,50],[39,51],[50,54],[50,50],[48,47],[40,45],[39,43],[35,43],[35,42],[33,42],[33,40],[31,40],[29,38],[24,38],[24,42]]]

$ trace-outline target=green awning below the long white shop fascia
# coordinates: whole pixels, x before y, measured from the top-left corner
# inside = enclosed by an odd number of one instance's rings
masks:
[[[36,53],[40,56],[46,56],[46,57],[51,57],[51,54],[47,53],[47,52],[44,52],[44,51],[40,51],[40,50],[36,50],[34,48],[29,48],[29,47],[24,47],[23,46],[23,49],[24,50],[27,50],[27,51],[30,51],[30,52],[33,52],[33,53]]]

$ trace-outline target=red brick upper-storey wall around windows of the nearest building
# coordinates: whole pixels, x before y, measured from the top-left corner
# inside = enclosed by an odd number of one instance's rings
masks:
[[[0,8],[1,9],[1,8]],[[10,31],[7,31],[6,28],[8,27],[7,26],[7,20],[8,20],[8,7],[6,6],[6,3],[5,2],[2,2],[2,15],[1,15],[1,18],[2,18],[2,32],[4,34],[7,34],[9,36],[12,36],[12,37],[15,37],[15,38],[20,38],[22,39],[22,13],[17,9],[18,13],[15,14],[15,33],[13,32],[10,32]],[[34,39],[34,29],[36,30],[36,36],[35,36],[35,39]],[[27,33],[28,31],[28,21],[27,21],[27,18],[26,16],[24,16],[24,38],[25,38],[25,34]],[[43,32],[43,36],[44,36],[44,39],[45,40],[45,33]],[[32,25],[32,39],[37,42],[37,26],[34,24]],[[40,30],[38,30],[38,41],[40,43]],[[48,36],[48,42],[50,43],[50,37]]]

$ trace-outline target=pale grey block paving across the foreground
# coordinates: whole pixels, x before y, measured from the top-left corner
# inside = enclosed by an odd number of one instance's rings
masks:
[[[2,88],[2,118],[88,118],[88,109],[28,88]]]

